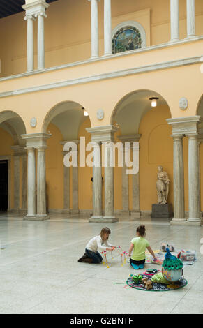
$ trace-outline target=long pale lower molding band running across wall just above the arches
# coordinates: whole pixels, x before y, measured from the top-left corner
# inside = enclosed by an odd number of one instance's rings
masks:
[[[133,50],[132,50],[133,51]],[[129,53],[129,52],[128,52]],[[17,96],[20,94],[29,94],[31,92],[36,91],[44,91],[44,90],[51,90],[51,89],[57,89],[61,87],[68,87],[70,85],[77,85],[77,84],[84,84],[84,83],[90,83],[90,82],[98,82],[102,80],[108,80],[116,77],[125,77],[129,75],[136,75],[141,73],[149,73],[156,70],[164,70],[168,68],[176,68],[186,65],[193,65],[193,64],[199,64],[202,62],[202,56],[197,57],[190,57],[185,59],[178,59],[174,61],[165,61],[163,63],[159,64],[151,64],[146,66],[140,66],[137,68],[128,68],[126,70],[117,70],[110,73],[103,73],[98,75],[92,75],[89,77],[81,77],[73,80],[65,80],[61,82],[54,82],[50,84],[44,84],[36,87],[29,87],[24,89],[17,89],[13,91],[6,91],[0,93],[0,98],[10,97],[10,96]],[[43,72],[45,70],[42,70]],[[0,79],[1,82],[1,79]]]

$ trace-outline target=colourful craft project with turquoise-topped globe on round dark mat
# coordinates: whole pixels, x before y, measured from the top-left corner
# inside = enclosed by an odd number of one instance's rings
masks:
[[[157,269],[148,269],[143,274],[130,274],[126,283],[139,290],[165,292],[176,290],[187,285],[183,277],[183,263],[172,255],[168,248],[163,261],[162,272]]]

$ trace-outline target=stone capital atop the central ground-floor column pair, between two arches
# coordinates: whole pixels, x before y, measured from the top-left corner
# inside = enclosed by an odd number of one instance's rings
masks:
[[[96,126],[94,128],[86,128],[91,133],[92,142],[114,142],[114,133],[119,130],[116,126]]]

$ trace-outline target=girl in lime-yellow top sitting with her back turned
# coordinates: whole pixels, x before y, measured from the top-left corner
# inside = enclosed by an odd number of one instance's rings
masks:
[[[146,229],[144,225],[140,225],[136,231],[137,237],[131,240],[128,255],[130,256],[130,264],[134,269],[143,269],[145,263],[145,250],[148,249],[149,253],[153,256],[153,260],[156,261],[156,257],[149,246],[149,242],[144,238]],[[131,253],[133,251],[133,255]]]

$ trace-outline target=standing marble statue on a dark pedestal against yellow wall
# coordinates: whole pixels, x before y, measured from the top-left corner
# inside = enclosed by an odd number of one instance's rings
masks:
[[[167,204],[167,196],[169,192],[169,183],[167,172],[163,171],[162,166],[158,166],[156,191],[158,195],[158,204]]]

